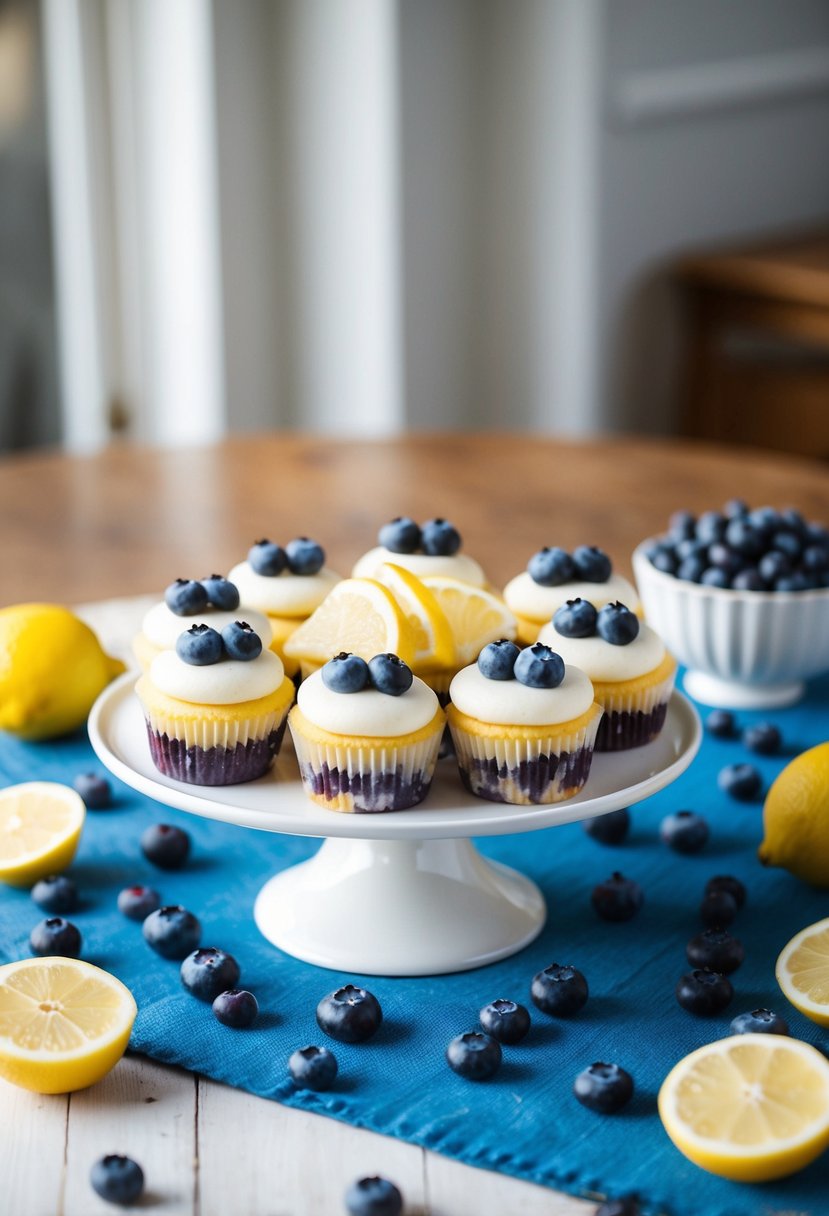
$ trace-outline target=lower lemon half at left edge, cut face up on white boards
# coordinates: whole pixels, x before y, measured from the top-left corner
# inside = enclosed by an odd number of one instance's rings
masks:
[[[0,1076],[35,1093],[94,1085],[124,1054],[137,1008],[120,980],[78,958],[0,967]]]

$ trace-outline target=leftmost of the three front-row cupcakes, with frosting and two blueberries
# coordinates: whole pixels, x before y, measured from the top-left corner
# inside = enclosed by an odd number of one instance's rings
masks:
[[[246,621],[221,634],[199,623],[157,654],[135,686],[153,764],[194,786],[261,777],[280,749],[294,699],[282,660]]]

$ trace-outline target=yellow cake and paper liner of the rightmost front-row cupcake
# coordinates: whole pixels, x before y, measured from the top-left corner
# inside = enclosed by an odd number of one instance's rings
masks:
[[[467,789],[491,803],[538,806],[563,803],[582,789],[590,776],[593,744],[602,715],[580,730],[546,738],[476,734],[452,719],[450,730],[461,778]]]

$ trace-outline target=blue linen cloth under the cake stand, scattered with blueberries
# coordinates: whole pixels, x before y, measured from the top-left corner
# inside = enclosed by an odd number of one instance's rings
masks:
[[[316,841],[265,832],[254,837],[250,829],[168,810],[113,781],[114,806],[89,812],[71,868],[83,893],[83,907],[72,916],[84,938],[83,957],[113,972],[135,993],[132,1051],[261,1097],[573,1194],[636,1192],[647,1214],[818,1216],[825,1212],[829,1153],[777,1183],[715,1178],[673,1148],[656,1114],[656,1093],[681,1057],[728,1034],[737,1013],[758,1006],[782,1013],[793,1035],[829,1049],[829,1034],[790,1008],[774,980],[779,950],[799,929],[829,914],[829,895],[783,871],[763,869],[756,860],[761,803],[737,803],[716,782],[723,765],[750,761],[768,786],[794,754],[823,742],[828,706],[824,679],[793,709],[738,714],[743,726],[776,721],[784,754],[754,756],[740,742],[707,737],[679,781],[632,809],[632,831],[621,846],[597,844],[579,823],[481,840],[486,855],[538,883],[548,902],[547,927],[512,958],[425,979],[323,970],[282,955],[259,935],[252,908],[260,886],[277,869],[308,857]],[[0,736],[0,786],[71,783],[89,770],[100,765],[85,734],[50,744]],[[659,839],[660,820],[678,809],[693,809],[710,823],[709,844],[697,856],[679,856]],[[193,852],[185,869],[164,873],[142,857],[139,838],[153,821],[191,833]],[[590,902],[593,885],[615,869],[645,893],[642,911],[624,924],[600,921]],[[690,969],[684,947],[701,929],[698,906],[705,882],[724,873],[738,876],[749,889],[748,903],[732,925],[745,945],[745,962],[732,976],[732,1006],[718,1018],[700,1019],[677,1006],[673,989]],[[253,1029],[220,1025],[209,1006],[184,991],[179,964],[154,955],[142,941],[141,927],[118,913],[117,894],[132,883],[156,886],[165,902],[196,912],[204,927],[203,945],[236,956],[241,985],[255,992],[261,1009]],[[28,935],[41,914],[28,893],[0,886],[1,961],[30,953]],[[591,997],[577,1017],[554,1020],[529,1001],[532,975],[551,962],[571,963],[587,976]],[[297,1047],[325,1042],[316,1004],[349,980],[378,997],[383,1026],[368,1043],[328,1043],[340,1066],[332,1091],[298,1091],[287,1076],[287,1059]],[[532,1029],[523,1043],[504,1048],[503,1066],[492,1081],[466,1081],[446,1065],[446,1045],[475,1029],[478,1010],[497,997],[525,1003]],[[594,1060],[619,1063],[635,1079],[635,1098],[616,1115],[597,1115],[573,1097],[576,1074]]]

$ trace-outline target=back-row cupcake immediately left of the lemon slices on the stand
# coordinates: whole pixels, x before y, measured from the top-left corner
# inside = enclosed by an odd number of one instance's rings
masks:
[[[284,653],[293,631],[322,603],[339,574],[326,567],[321,545],[298,536],[284,548],[270,540],[258,540],[247,559],[230,572],[239,589],[242,602],[265,613],[273,634],[276,651],[289,676],[299,672],[299,663]]]

